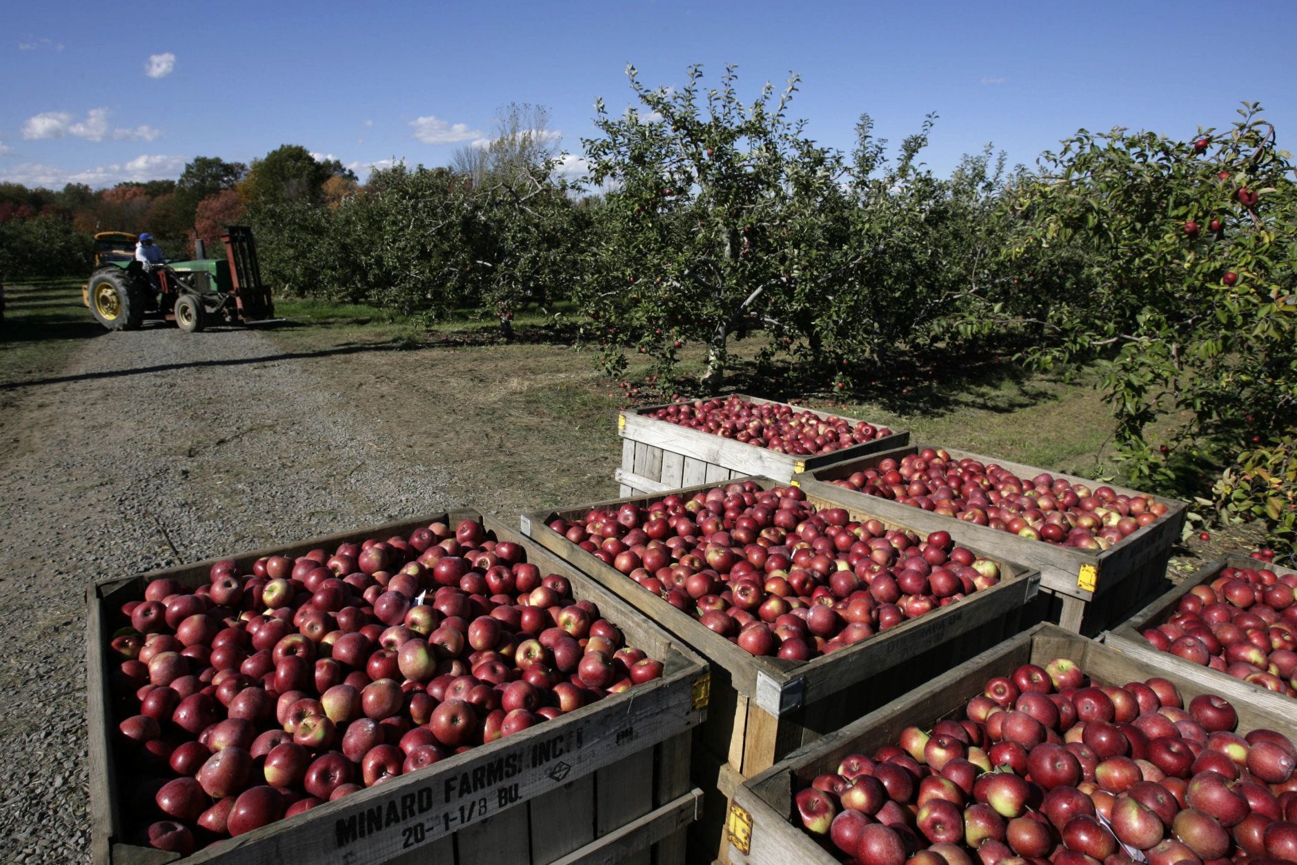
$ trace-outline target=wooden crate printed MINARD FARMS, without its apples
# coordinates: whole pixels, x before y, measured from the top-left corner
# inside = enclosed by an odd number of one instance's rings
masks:
[[[407,534],[431,521],[482,517],[454,511],[362,532],[315,538],[233,556],[301,555],[367,537]],[[703,660],[629,604],[486,517],[497,538],[523,543],[542,572],[560,573],[576,598],[589,598],[629,643],[663,660],[660,680],[610,696],[524,733],[442,760],[428,769],[326,803],[289,820],[226,839],[185,857],[191,862],[680,862],[686,826],[702,808],[690,783],[691,728],[707,713]],[[88,590],[88,699],[92,855],[96,864],[176,861],[134,846],[114,796],[123,766],[113,760],[109,717],[109,622],[152,580],[196,586],[214,560],[112,580]],[[472,778],[472,781],[468,781]]]

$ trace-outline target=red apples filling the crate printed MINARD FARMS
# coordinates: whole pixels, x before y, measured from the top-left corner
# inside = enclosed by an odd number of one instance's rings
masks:
[[[137,839],[191,853],[661,676],[480,523],[156,580],[110,643]],[[135,772],[132,772],[135,770]]]

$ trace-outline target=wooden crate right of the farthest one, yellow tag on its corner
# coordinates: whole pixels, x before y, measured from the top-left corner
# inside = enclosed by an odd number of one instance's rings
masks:
[[[1171,558],[1171,546],[1179,541],[1184,528],[1184,502],[1153,497],[1167,508],[1166,514],[1156,521],[1141,527],[1108,550],[1078,550],[1019,538],[1016,534],[986,525],[974,525],[956,517],[942,516],[833,484],[833,481],[847,479],[855,472],[874,468],[883,459],[900,460],[903,456],[916,454],[925,447],[936,449],[938,445],[910,445],[887,453],[870,454],[850,463],[807,469],[807,475],[800,477],[799,482],[802,489],[808,493],[815,490],[817,495],[833,498],[844,504],[868,507],[881,516],[909,523],[923,532],[936,532],[938,529],[953,532],[955,525],[968,527],[964,537],[969,543],[975,543],[997,556],[1040,571],[1043,591],[1039,599],[1039,620],[1057,622],[1066,630],[1087,637],[1093,637],[1114,622],[1122,621],[1169,585],[1166,563]],[[983,464],[995,463],[1018,477],[1031,479],[1041,472],[1048,472],[1071,484],[1084,484],[1091,488],[1104,485],[1084,477],[983,456],[966,450],[952,447],[944,450],[952,459],[971,458]],[[1126,495],[1132,495],[1136,492],[1113,484],[1106,484],[1106,486]]]

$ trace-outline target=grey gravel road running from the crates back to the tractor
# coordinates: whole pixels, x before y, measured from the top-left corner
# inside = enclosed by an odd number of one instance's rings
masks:
[[[0,861],[89,861],[91,582],[464,502],[436,454],[394,455],[398,406],[252,331],[106,333],[6,396]]]

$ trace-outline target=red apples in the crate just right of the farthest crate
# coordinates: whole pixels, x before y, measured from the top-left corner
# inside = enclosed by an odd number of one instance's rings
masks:
[[[1032,541],[1082,550],[1106,550],[1166,514],[1166,506],[1147,493],[1126,495],[1110,486],[1091,490],[1045,472],[1025,480],[995,463],[951,459],[944,450],[931,447],[899,462],[879,460],[877,468],[833,482]]]

